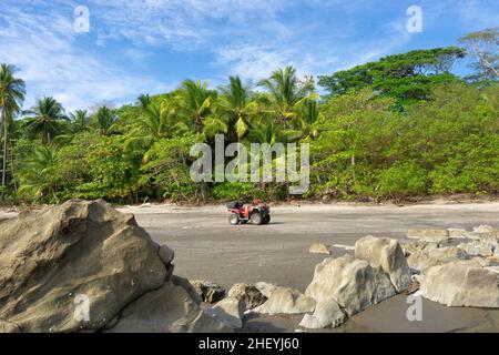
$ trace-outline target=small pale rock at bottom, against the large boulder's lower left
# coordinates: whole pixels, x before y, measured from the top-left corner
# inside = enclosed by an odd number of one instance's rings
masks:
[[[305,314],[299,326],[309,329],[334,328],[345,323],[346,318],[346,314],[342,311],[338,303],[329,300],[317,303],[314,314]]]

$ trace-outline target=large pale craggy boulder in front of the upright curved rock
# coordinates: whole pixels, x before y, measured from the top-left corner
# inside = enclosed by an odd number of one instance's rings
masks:
[[[349,316],[395,294],[394,285],[380,267],[349,254],[328,257],[318,264],[305,292],[317,303],[336,301]]]

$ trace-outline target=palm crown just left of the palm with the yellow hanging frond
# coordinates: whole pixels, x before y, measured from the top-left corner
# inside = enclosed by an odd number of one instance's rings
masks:
[[[207,89],[207,82],[185,80],[173,99],[164,102],[162,110],[186,121],[196,133],[212,135],[220,131],[226,132],[227,129],[223,120],[212,114],[215,100],[216,92]]]

